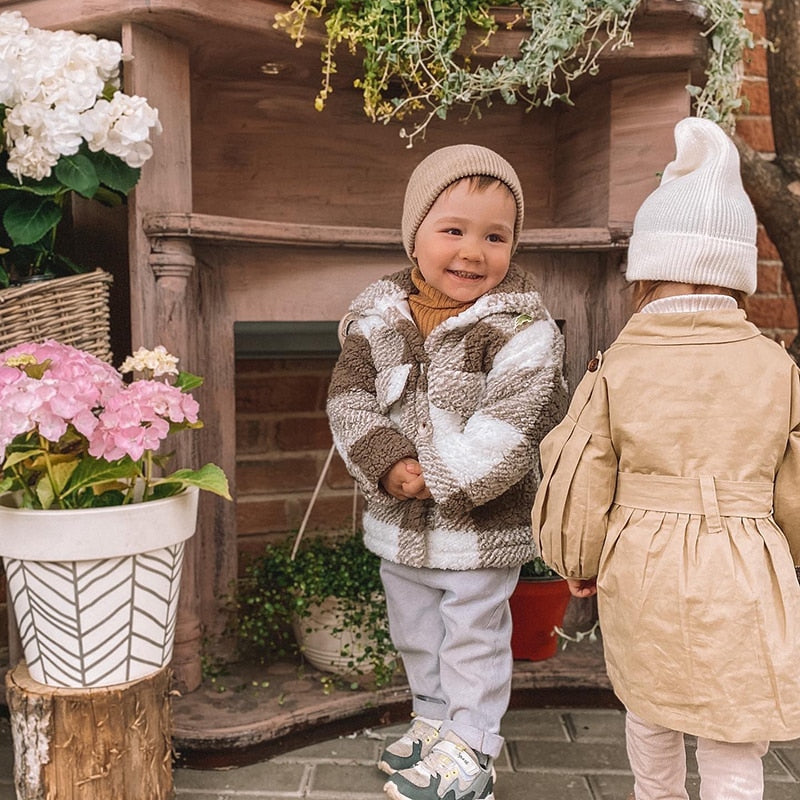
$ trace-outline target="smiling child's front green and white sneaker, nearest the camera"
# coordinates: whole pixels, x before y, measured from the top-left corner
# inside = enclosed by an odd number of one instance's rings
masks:
[[[494,800],[494,769],[452,731],[422,761],[392,775],[383,786],[392,800]]]

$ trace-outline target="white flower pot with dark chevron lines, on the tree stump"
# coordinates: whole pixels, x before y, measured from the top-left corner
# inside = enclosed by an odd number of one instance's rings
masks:
[[[198,490],[108,508],[35,511],[0,498],[0,555],[31,677],[92,688],[172,658]]]

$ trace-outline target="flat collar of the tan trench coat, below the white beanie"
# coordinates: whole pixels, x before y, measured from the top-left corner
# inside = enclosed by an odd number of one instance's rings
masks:
[[[738,342],[761,336],[744,311],[634,314],[617,337],[619,344],[704,344]]]

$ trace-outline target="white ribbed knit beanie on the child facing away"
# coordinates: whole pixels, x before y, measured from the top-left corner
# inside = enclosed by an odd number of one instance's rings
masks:
[[[625,277],[753,294],[756,213],[736,147],[719,125],[697,117],[675,126],[675,147],[675,160],[636,214]]]

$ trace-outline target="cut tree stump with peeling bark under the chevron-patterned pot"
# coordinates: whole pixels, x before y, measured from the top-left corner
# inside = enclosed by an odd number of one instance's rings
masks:
[[[97,689],[6,675],[17,800],[168,800],[170,671]]]

